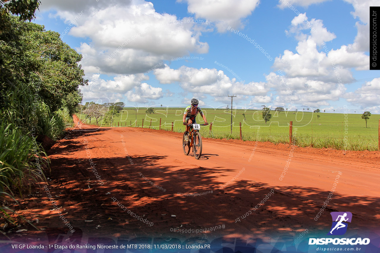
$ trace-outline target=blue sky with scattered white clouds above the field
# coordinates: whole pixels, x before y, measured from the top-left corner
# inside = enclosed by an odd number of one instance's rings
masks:
[[[380,71],[368,56],[376,3],[42,0],[35,22],[83,55],[82,103],[185,106],[196,97],[218,108],[237,94],[238,108],[380,113]]]

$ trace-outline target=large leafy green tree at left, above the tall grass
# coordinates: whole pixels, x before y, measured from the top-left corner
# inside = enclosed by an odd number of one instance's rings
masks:
[[[0,106],[7,100],[4,91],[13,83],[38,95],[51,112],[67,107],[73,114],[82,101],[79,85],[88,84],[78,64],[82,55],[63,43],[59,33],[17,19],[9,16],[11,26],[0,34]]]

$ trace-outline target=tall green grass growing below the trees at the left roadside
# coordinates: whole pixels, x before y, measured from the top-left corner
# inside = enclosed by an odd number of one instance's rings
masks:
[[[51,113],[24,84],[9,83],[5,98],[0,111],[0,218],[15,224],[6,202],[30,192],[33,182],[46,180],[43,170],[49,161],[36,136],[59,139],[73,121],[65,108]]]

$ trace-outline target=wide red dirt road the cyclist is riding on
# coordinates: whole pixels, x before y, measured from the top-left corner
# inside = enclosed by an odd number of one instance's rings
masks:
[[[350,232],[380,228],[380,152],[344,154],[204,138],[202,157],[196,160],[192,153],[184,155],[181,133],[82,124],[65,138],[49,150],[48,188],[70,224],[87,235],[268,239],[297,236],[305,229],[326,234],[332,211],[353,214]],[[339,172],[335,192],[315,221]],[[39,217],[36,225],[47,233],[66,226],[52,210],[45,185],[35,189],[36,196],[21,200],[17,213]],[[128,210],[153,225],[136,220]],[[173,231],[219,225],[225,228]]]

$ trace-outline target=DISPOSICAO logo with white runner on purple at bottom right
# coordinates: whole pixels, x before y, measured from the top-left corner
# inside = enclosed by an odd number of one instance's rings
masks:
[[[350,212],[331,212],[332,225],[327,235],[340,236],[347,232],[348,223],[352,220]],[[331,243],[334,245],[367,245],[369,238],[309,238],[309,245],[326,245]]]

